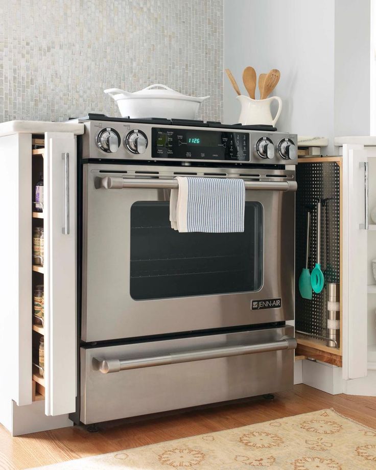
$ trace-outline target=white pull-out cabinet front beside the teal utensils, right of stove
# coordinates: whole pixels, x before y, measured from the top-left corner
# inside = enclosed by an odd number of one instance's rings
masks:
[[[343,165],[343,378],[358,379],[367,375],[368,161],[363,146],[345,145]]]

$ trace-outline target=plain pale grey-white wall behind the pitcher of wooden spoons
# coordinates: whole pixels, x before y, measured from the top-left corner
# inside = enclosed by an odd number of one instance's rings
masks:
[[[224,66],[278,68],[280,131],[330,138],[369,135],[370,0],[224,0]],[[360,76],[358,76],[360,74]],[[243,88],[243,91],[244,88]],[[240,106],[224,78],[224,122]]]

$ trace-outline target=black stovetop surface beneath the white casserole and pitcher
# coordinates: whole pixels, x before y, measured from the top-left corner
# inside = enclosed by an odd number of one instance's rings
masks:
[[[69,119],[77,119],[72,117]],[[165,117],[140,117],[138,119],[131,117],[110,117],[105,114],[89,113],[87,116],[79,117],[79,122],[82,121],[111,121],[123,123],[138,123],[138,124],[164,124],[173,126],[194,126],[194,127],[216,127],[223,129],[244,129],[253,131],[266,131],[275,132],[276,127],[265,124],[254,124],[251,126],[243,126],[242,124],[222,124],[217,121],[199,121],[188,119],[166,119]]]

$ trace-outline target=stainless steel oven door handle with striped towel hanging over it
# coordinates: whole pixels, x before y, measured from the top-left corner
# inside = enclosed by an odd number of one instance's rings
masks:
[[[296,181],[244,181],[246,190],[261,191],[296,191]],[[176,179],[153,179],[153,178],[122,178],[121,176],[97,176],[95,187],[105,190],[119,190],[123,188],[136,189],[177,189],[178,181]]]

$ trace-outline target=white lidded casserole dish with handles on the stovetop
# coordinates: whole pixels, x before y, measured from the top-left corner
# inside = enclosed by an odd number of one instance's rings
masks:
[[[195,119],[200,104],[210,98],[208,96],[196,98],[182,95],[182,93],[159,83],[134,93],[128,93],[119,88],[109,88],[104,92],[116,101],[123,117]]]

